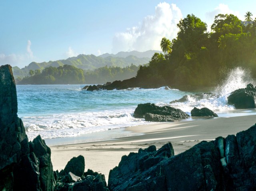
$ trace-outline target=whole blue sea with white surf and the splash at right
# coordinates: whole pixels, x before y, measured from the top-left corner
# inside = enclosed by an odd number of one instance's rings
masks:
[[[211,94],[196,96],[193,96],[195,92],[168,87],[86,91],[82,90],[85,85],[17,85],[18,116],[32,140],[38,134],[43,139],[75,137],[149,124],[152,122],[133,117],[136,106],[147,102],[169,105],[188,114],[194,107],[207,107],[220,117],[256,114],[256,110],[236,110],[227,105],[228,95],[250,82],[243,78],[244,75],[238,70],[228,77],[226,83],[211,90]],[[188,95],[187,101],[170,104],[185,95]]]

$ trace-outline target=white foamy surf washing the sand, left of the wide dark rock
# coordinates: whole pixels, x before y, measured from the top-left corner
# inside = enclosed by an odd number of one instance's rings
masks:
[[[99,132],[127,126],[146,124],[143,119],[133,117],[134,109],[46,116],[22,117],[30,140],[38,134],[43,139],[71,137],[91,132]]]

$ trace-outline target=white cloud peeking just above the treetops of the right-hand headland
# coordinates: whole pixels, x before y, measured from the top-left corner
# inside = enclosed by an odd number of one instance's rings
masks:
[[[243,19],[243,18],[240,16],[240,14],[239,14],[238,11],[233,11],[233,10],[231,10],[231,9],[228,7],[228,5],[225,5],[225,4],[222,4],[222,3],[221,3],[221,4],[219,4],[218,7],[214,8],[213,11],[207,12],[207,13],[205,14],[205,16],[206,16],[206,24],[207,24],[207,26],[208,26],[208,31],[211,30],[211,26],[212,26],[212,24],[213,24],[213,22],[214,22],[214,17],[215,17],[216,15],[218,15],[218,14],[234,14],[234,15],[237,16],[238,18]]]

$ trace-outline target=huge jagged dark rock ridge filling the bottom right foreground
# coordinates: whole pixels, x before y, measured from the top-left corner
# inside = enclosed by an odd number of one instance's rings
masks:
[[[176,156],[170,148],[151,146],[123,156],[110,171],[110,191],[256,190],[256,125]]]

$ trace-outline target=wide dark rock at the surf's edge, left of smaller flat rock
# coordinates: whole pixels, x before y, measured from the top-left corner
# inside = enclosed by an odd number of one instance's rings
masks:
[[[155,104],[145,103],[138,104],[134,111],[135,118],[145,118],[146,121],[154,122],[172,122],[190,116],[180,109],[176,109],[170,106],[156,106]]]

